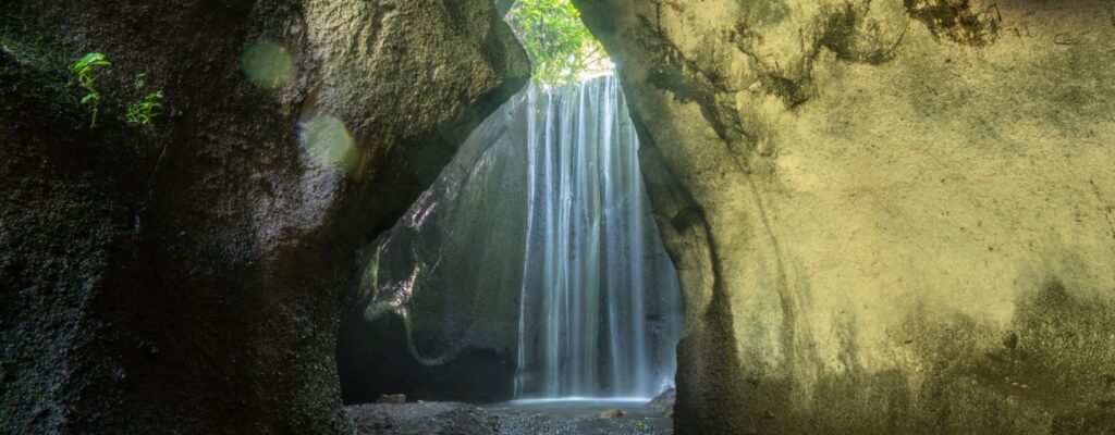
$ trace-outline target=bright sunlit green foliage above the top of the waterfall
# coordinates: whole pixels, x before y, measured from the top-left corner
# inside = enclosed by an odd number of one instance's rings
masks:
[[[576,81],[608,56],[570,0],[520,0],[510,18],[542,83]]]

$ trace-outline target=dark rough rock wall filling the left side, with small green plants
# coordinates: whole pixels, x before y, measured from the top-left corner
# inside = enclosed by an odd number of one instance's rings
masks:
[[[358,250],[529,77],[482,0],[17,1],[0,42],[3,433],[350,429]],[[253,85],[261,42],[291,68]],[[93,131],[65,71],[90,51]],[[136,73],[167,96],[145,129]]]

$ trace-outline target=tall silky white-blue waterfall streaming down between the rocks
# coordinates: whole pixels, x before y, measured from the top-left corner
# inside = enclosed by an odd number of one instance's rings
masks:
[[[525,91],[516,398],[650,397],[672,383],[680,298],[639,141],[608,76]]]

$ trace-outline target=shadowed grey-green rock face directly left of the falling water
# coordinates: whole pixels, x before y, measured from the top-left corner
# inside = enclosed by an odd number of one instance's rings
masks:
[[[476,128],[429,189],[369,247],[360,303],[338,333],[347,404],[381,393],[472,403],[511,398],[526,233],[521,100],[522,93],[512,97]]]

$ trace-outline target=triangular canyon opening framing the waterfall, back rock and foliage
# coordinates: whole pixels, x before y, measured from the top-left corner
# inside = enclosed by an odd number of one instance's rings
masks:
[[[678,275],[613,65],[571,3],[497,6],[535,79],[367,250],[337,343],[346,404],[642,406],[673,387]]]

